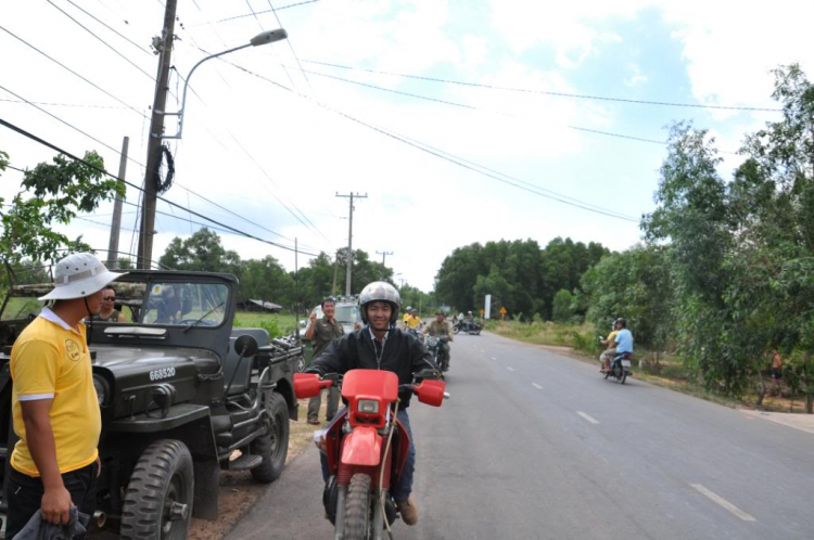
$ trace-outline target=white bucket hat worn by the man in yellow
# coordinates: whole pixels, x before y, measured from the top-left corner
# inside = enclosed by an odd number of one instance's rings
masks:
[[[54,287],[40,300],[69,300],[98,293],[127,272],[111,272],[96,255],[73,253],[54,267]]]

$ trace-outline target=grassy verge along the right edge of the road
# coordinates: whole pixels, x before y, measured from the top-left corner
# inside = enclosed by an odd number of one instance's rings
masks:
[[[599,333],[590,324],[558,324],[551,321],[486,321],[486,330],[504,337],[534,345],[567,348],[571,357],[599,365],[601,345]],[[758,407],[758,389],[740,397],[729,397],[704,388],[684,367],[681,359],[670,355],[654,362],[652,351],[638,349],[634,355],[633,376],[658,386],[732,408],[760,409],[771,412],[802,413],[804,398],[791,396],[784,388],[780,396],[766,395]],[[768,384],[768,383],[767,383]]]

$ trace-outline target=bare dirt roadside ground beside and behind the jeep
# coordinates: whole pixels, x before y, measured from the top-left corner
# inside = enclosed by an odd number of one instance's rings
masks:
[[[320,417],[325,417],[326,401],[322,400]],[[300,400],[300,421],[291,422],[289,436],[289,454],[287,463],[296,458],[307,445],[311,443],[316,426],[306,422],[308,400]],[[315,466],[317,466],[315,464]],[[254,505],[268,486],[257,484],[252,479],[249,471],[221,472],[220,473],[220,498],[218,501],[218,518],[215,522],[205,519],[192,519],[189,540],[221,540],[234,527],[243,515]],[[102,531],[91,535],[93,540],[115,540],[118,535],[111,531]]]

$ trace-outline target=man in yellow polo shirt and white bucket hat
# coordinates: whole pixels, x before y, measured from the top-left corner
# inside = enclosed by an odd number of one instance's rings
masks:
[[[91,254],[68,255],[54,267],[53,291],[40,298],[52,306],[14,342],[12,411],[20,440],[11,454],[5,538],[38,510],[55,525],[68,523],[71,506],[93,514],[102,419],[81,321],[99,313],[104,286],[120,275]]]

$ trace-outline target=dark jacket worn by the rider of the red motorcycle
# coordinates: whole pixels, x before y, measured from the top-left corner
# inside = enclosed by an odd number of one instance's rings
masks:
[[[424,345],[415,336],[405,334],[398,329],[391,329],[387,332],[381,363],[377,360],[376,347],[377,345],[370,337],[370,330],[365,326],[331,342],[325,352],[311,361],[306,372],[325,375],[326,373],[344,374],[351,370],[384,370],[398,375],[400,385],[412,383],[414,373],[428,368],[438,369]],[[398,397],[402,398],[402,403],[398,408],[407,409],[411,396],[412,393],[409,390],[399,390]]]

